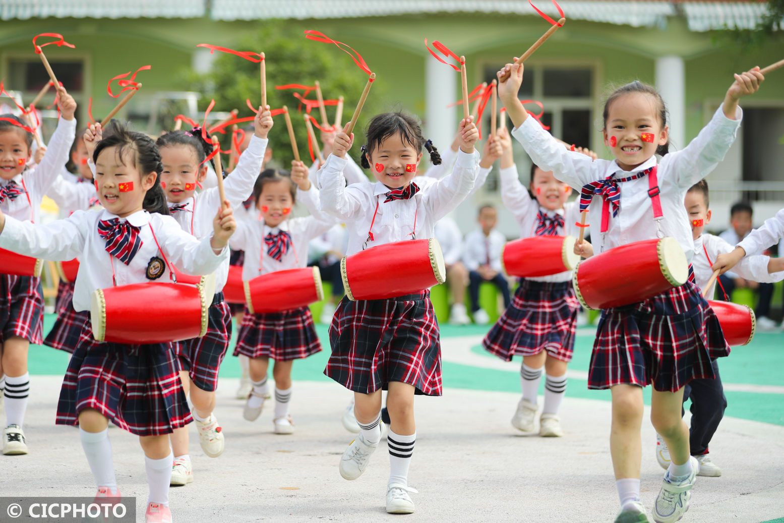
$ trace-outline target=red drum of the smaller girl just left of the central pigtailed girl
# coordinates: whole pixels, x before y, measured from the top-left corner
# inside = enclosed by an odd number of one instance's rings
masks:
[[[242,269],[242,267],[238,267]],[[318,267],[286,269],[245,281],[245,303],[250,314],[305,307],[324,298]]]

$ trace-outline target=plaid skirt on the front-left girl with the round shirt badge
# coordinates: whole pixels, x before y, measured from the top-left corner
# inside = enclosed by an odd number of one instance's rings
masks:
[[[171,343],[99,343],[89,321],[65,372],[56,423],[78,425],[84,409],[138,436],[171,434],[193,421]]]

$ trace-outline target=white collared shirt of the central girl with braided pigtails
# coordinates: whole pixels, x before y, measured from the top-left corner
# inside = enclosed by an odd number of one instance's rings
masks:
[[[345,165],[346,160],[334,154],[327,158],[321,169],[321,209],[345,221],[349,231],[347,254],[351,255],[362,250],[371,223],[375,239],[368,242],[368,247],[410,240],[412,233],[417,239],[433,238],[435,222],[455,209],[474,188],[479,153],[459,151],[449,176],[423,187],[413,198],[387,203],[383,195],[390,189],[383,183],[352,183],[346,187]]]

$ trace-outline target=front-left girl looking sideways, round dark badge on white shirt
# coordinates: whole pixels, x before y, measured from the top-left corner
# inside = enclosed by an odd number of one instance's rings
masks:
[[[168,261],[191,274],[209,274],[228,259],[227,241],[237,226],[228,202],[227,209],[217,211],[212,238],[201,242],[170,216],[158,214],[167,209],[159,179],[161,156],[151,138],[116,126],[97,144],[93,158],[102,211],[77,211],[46,226],[0,213],[0,247],[52,260],[80,256],[76,311],[89,310],[93,292],[118,282],[168,281]],[[156,314],[156,304],[149,307]],[[78,424],[96,497],[120,496],[108,420],[138,435],[150,487],[147,522],[170,522],[168,434],[191,422],[171,344],[100,343],[89,322],[83,329],[60,390],[56,423]]]

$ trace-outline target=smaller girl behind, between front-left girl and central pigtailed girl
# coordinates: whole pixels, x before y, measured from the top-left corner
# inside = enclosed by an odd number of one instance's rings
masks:
[[[306,267],[307,244],[324,234],[335,224],[323,216],[314,202],[318,191],[308,180],[303,162],[292,162],[292,174],[266,169],[253,187],[259,220],[240,223],[237,234],[231,239],[234,249],[245,251],[242,279],[252,280],[267,274],[295,267]],[[296,178],[299,185],[292,179]],[[316,216],[291,218],[299,187],[300,198]],[[274,299],[270,297],[270,300]],[[267,367],[270,358],[275,361],[272,374],[275,379],[275,434],[293,434],[294,423],[289,416],[292,396],[292,364],[295,359],[307,358],[321,350],[313,316],[308,307],[289,311],[245,315],[237,338],[234,355],[244,354],[250,359],[250,379],[253,388],[242,416],[255,421],[261,414],[264,401],[270,397],[267,386]]]

